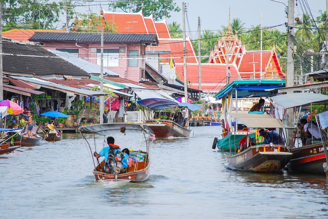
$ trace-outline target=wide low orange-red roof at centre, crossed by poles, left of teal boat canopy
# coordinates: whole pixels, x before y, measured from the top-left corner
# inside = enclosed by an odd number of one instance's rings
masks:
[[[229,64],[230,80],[238,79],[238,71],[235,65]],[[176,65],[177,77],[183,82],[183,64]],[[202,64],[202,90],[218,91],[226,85],[226,64]],[[187,82],[191,88],[198,89],[198,64],[187,64]]]

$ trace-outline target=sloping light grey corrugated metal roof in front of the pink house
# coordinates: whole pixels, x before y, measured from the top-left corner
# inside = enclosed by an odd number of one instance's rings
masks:
[[[73,56],[70,53],[61,52],[58,50],[48,50],[48,51],[55,55],[58,55],[59,57],[61,57],[64,60],[76,65],[77,67],[83,69],[84,71],[86,71],[89,74],[100,74],[101,73],[101,67],[90,61],[87,61],[82,58],[78,58],[76,56]],[[113,72],[111,70],[108,70],[106,68],[102,68],[102,69],[103,69],[103,74],[111,75],[111,76],[120,76],[120,74]]]

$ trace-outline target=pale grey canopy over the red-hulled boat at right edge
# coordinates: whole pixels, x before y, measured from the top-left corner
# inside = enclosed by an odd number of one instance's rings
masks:
[[[311,103],[328,101],[328,95],[317,93],[288,93],[271,97],[271,100],[278,106],[288,109]]]

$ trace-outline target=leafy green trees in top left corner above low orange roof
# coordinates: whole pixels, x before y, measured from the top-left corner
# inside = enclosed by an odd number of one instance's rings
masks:
[[[51,29],[59,21],[63,1],[2,0],[3,30],[15,28]]]

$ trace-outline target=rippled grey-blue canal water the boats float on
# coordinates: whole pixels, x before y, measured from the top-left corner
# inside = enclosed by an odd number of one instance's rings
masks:
[[[223,153],[211,148],[220,132],[195,127],[189,138],[156,139],[143,183],[95,182],[79,134],[1,155],[0,218],[328,218],[324,176],[228,170]],[[139,148],[139,135],[126,137],[115,143]],[[103,138],[96,144],[100,150]]]

